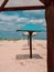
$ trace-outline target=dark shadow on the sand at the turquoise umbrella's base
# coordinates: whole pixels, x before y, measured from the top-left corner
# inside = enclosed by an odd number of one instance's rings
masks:
[[[17,54],[15,56],[17,60],[24,60],[24,59],[30,59],[29,54]],[[32,59],[43,59],[40,54],[33,54]]]

